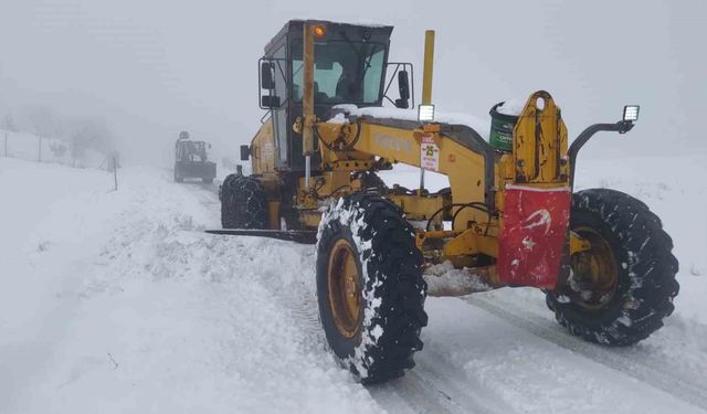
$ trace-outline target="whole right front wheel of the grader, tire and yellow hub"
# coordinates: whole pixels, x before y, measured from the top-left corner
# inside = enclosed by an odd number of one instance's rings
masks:
[[[570,229],[591,243],[546,301],[570,332],[608,346],[634,344],[663,326],[679,285],[673,241],[641,201],[609,189],[572,195]]]

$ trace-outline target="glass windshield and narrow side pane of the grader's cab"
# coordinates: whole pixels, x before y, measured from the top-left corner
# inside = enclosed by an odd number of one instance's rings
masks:
[[[315,44],[316,104],[376,104],[381,95],[386,47],[378,43],[330,41]],[[302,102],[302,42],[292,46],[293,99]]]

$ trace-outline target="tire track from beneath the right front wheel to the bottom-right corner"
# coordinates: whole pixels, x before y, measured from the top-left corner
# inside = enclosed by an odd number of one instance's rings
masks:
[[[524,311],[505,300],[503,301],[503,307],[498,305],[499,300],[494,299],[492,301],[478,296],[464,297],[462,300],[541,339],[659,389],[678,400],[707,410],[707,388],[673,374],[673,367],[671,365],[659,367],[648,358],[641,358],[641,355],[636,354],[621,354],[619,353],[621,350],[585,342],[569,332],[564,332],[563,328],[553,321]]]

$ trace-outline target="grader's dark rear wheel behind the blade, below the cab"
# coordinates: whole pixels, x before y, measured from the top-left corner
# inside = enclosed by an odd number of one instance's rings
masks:
[[[231,174],[221,185],[223,229],[267,229],[267,199],[256,178]]]

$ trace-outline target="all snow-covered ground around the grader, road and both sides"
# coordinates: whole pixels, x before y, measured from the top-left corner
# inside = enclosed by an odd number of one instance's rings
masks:
[[[610,350],[535,290],[429,298],[418,367],[366,389],[326,350],[312,246],[204,234],[212,189],[166,171],[125,169],[110,192],[104,172],[0,159],[0,413],[706,412],[705,187],[601,173],[675,238],[664,329]]]

